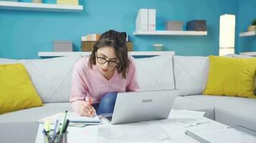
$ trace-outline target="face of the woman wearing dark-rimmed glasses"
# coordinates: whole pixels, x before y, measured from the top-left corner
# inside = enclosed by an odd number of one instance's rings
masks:
[[[109,75],[114,72],[119,64],[113,47],[104,46],[96,51],[96,66],[103,75]]]

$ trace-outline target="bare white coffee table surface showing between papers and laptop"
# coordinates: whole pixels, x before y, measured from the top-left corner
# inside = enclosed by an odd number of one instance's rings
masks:
[[[204,117],[202,120],[204,122],[203,124],[198,124],[196,126],[191,126],[186,128],[176,128],[176,127],[172,127],[171,125],[161,126],[161,127],[162,129],[165,130],[165,132],[167,132],[170,135],[172,139],[180,143],[198,142],[195,139],[188,137],[184,133],[187,129],[192,131],[201,131],[204,129],[222,129],[222,128],[228,127],[227,125],[213,121],[206,117]],[[148,124],[148,122],[146,123]],[[145,122],[111,125],[106,119],[102,119],[101,125],[93,125],[93,126],[87,126],[87,127],[68,127],[68,142],[76,142],[76,143],[97,142],[97,131],[99,127],[121,127],[121,126],[127,126],[127,125],[129,126],[134,124],[145,124]],[[151,122],[149,124],[151,124]],[[37,138],[35,140],[36,143],[44,142],[42,129],[43,129],[43,124],[40,124],[39,129],[37,131]]]

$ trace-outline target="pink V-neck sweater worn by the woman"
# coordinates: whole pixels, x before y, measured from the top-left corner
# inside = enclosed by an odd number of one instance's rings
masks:
[[[139,91],[135,63],[132,56],[129,56],[130,64],[127,79],[122,78],[115,70],[113,77],[107,80],[95,65],[93,65],[92,69],[88,66],[88,60],[88,56],[79,59],[73,69],[70,103],[75,112],[77,109],[76,103],[78,103],[76,101],[83,100],[88,102],[88,97],[91,97],[92,103],[99,103],[104,94],[109,92]]]

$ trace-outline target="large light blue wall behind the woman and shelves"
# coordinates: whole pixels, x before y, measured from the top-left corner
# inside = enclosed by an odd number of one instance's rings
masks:
[[[162,43],[178,55],[219,54],[219,16],[238,14],[238,0],[86,0],[81,13],[0,10],[0,57],[39,58],[52,40],[71,40],[80,51],[81,36],[108,29],[132,35],[140,8],[157,9],[157,30],[167,20],[206,19],[208,36],[132,36],[134,51],[152,51]]]

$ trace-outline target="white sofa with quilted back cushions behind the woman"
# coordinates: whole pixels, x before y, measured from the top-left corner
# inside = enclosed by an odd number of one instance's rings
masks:
[[[235,55],[231,55],[235,56]],[[80,55],[53,59],[0,59],[0,64],[22,62],[44,105],[0,115],[0,142],[35,142],[38,119],[65,110],[69,104],[73,64]],[[229,126],[256,130],[256,99],[205,96],[209,59],[206,56],[162,56],[136,59],[142,90],[179,89],[173,109],[205,111],[205,117]]]

